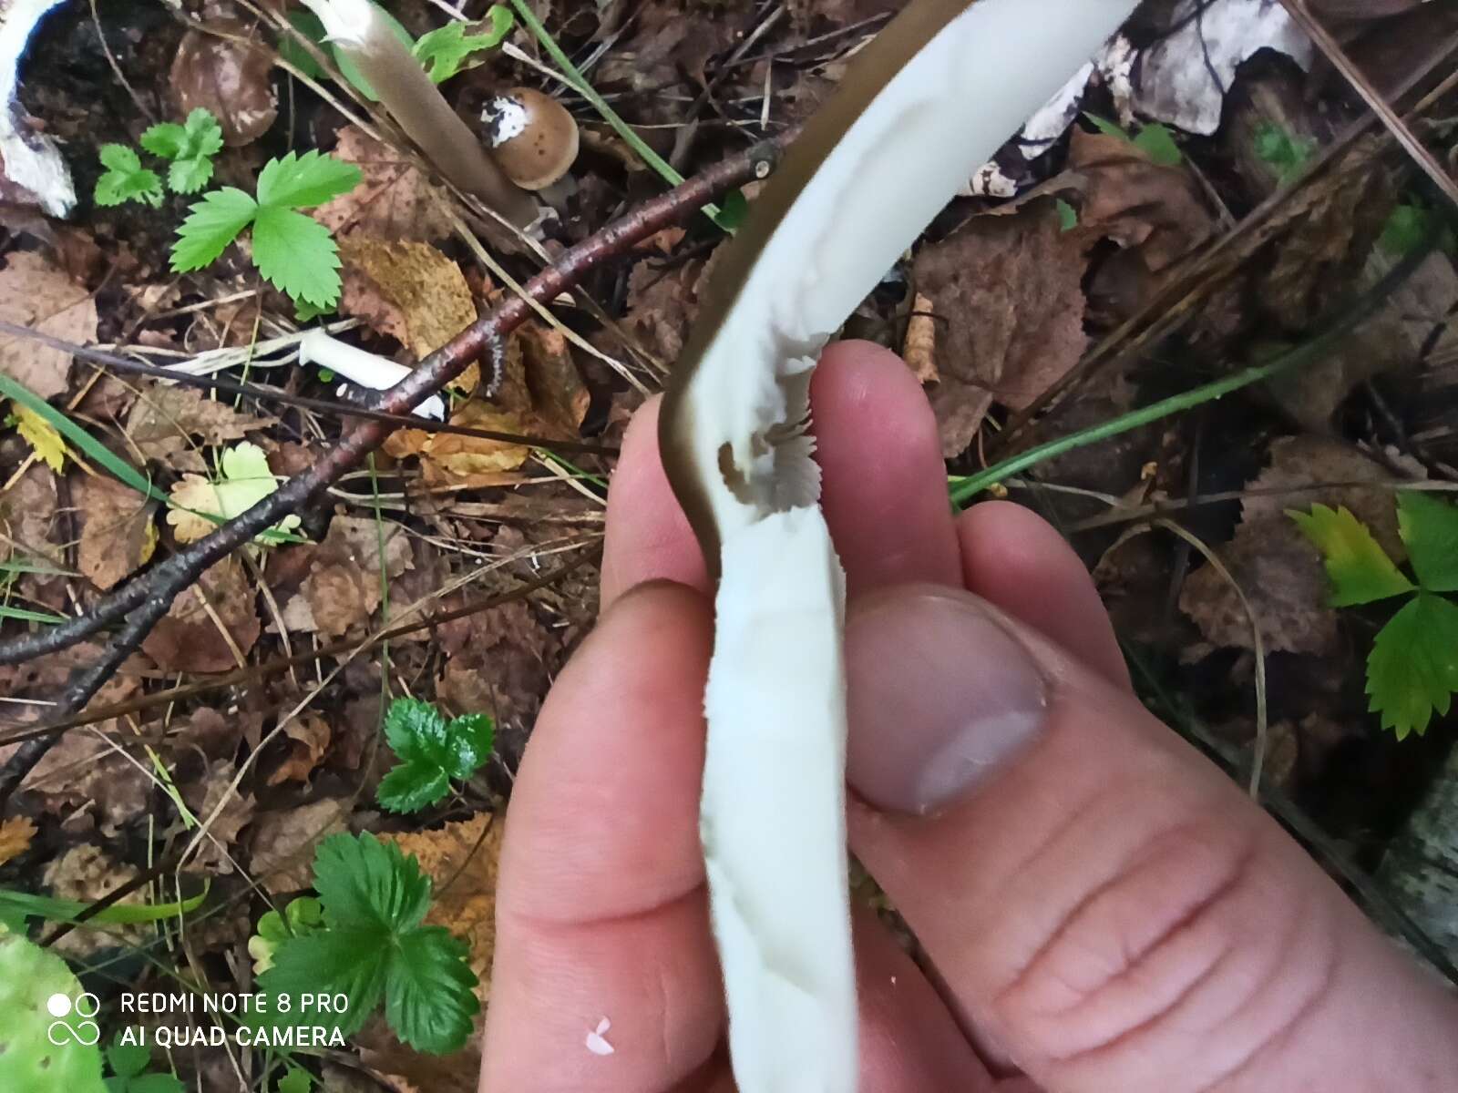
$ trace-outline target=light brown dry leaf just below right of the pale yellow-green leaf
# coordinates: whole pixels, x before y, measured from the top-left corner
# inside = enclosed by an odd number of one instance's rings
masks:
[[[309,564],[299,595],[284,608],[290,630],[343,637],[363,627],[379,606],[381,536],[385,574],[398,577],[414,567],[410,538],[398,523],[383,529],[375,520],[335,516]]]

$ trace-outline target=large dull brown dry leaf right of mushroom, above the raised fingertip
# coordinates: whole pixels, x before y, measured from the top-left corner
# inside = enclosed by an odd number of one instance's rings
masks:
[[[961,455],[996,401],[1021,410],[1083,353],[1083,258],[1048,203],[974,217],[916,259],[937,338],[932,407],[942,453]]]

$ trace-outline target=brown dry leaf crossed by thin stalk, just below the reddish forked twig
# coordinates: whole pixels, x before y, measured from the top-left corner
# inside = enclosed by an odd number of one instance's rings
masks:
[[[261,631],[254,587],[243,564],[223,558],[172,602],[141,650],[165,672],[227,672],[238,667],[233,646],[243,656]],[[208,615],[207,606],[227,628],[232,646]]]

